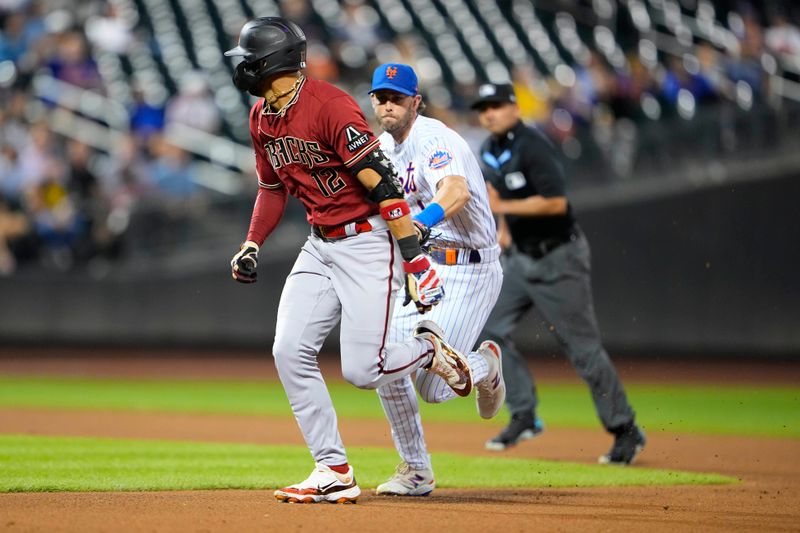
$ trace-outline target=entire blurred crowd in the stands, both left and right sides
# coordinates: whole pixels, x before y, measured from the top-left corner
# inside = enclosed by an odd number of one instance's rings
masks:
[[[468,107],[482,80],[442,79],[423,53],[422,37],[387,30],[376,3],[343,1],[335,21],[324,19],[309,0],[278,4],[307,34],[309,75],[354,91],[366,104],[364,86],[375,65],[409,63],[421,73],[428,114],[459,130],[473,146],[480,143],[484,133]],[[588,162],[597,175],[624,177],[634,172],[643,125],[688,123],[719,102],[743,111],[758,108],[771,95],[765,52],[800,58],[797,13],[735,4],[728,18],[736,53],[699,42],[681,56],[664,55],[640,41],[616,67],[597,52],[546,76],[533,62],[517,65],[508,81],[515,85],[523,117],[538,123],[567,160]],[[124,102],[127,124],[103,130],[105,139],[77,135],[81,122],[64,118],[51,99],[35,91],[36,77],[44,73],[109,96],[113,91],[98,54],[125,56],[136,42],[154,54],[164,52],[156,50],[141,24],[132,24],[105,0],[0,0],[0,275],[25,261],[57,270],[102,269],[124,253],[124,237],[137,213],[175,225],[208,200],[208,191],[198,185],[198,162],[165,136],[172,124],[232,134],[204,72],[176,80],[165,99],[133,83],[131,99]],[[426,78],[431,72],[438,74]],[[102,123],[80,112],[75,117]],[[249,144],[247,138],[238,140]]]

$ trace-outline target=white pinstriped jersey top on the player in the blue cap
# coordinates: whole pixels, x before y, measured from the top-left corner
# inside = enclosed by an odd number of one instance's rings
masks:
[[[480,165],[467,142],[442,122],[418,116],[408,137],[396,144],[389,133],[378,137],[400,175],[411,214],[422,211],[446,176],[463,176],[472,200],[433,228],[432,242],[453,248],[494,248],[496,230]]]

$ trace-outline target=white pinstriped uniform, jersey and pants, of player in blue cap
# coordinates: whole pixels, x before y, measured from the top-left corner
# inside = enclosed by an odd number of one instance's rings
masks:
[[[408,137],[399,146],[388,133],[383,133],[378,139],[400,174],[412,214],[419,213],[431,201],[442,178],[456,175],[467,180],[472,199],[452,217],[432,228],[432,242],[447,248],[481,250],[481,261],[437,264],[445,296],[424,317],[415,306],[404,307],[405,295],[398,293],[389,339],[408,338],[422,318],[431,319],[442,328],[452,346],[467,354],[473,380],[478,383],[487,376],[488,365],[482,355],[471,350],[503,283],[494,218],[478,161],[460,135],[438,120],[427,117],[416,118]],[[416,389],[425,401],[436,403],[455,397],[453,389],[434,374],[417,372],[415,381]],[[400,457],[412,468],[430,468],[411,377],[379,387],[378,394]]]

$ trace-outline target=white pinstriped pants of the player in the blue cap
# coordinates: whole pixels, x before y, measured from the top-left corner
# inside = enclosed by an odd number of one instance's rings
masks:
[[[390,342],[408,339],[414,326],[422,320],[436,322],[445,332],[447,342],[462,353],[469,353],[473,381],[486,377],[486,360],[472,352],[489,313],[494,307],[503,284],[503,269],[499,260],[471,265],[436,265],[444,282],[445,297],[429,313],[420,315],[416,307],[403,307],[403,291],[395,302]],[[419,404],[414,384],[423,400],[445,402],[456,397],[455,392],[440,377],[418,370],[415,382],[411,376],[378,388],[378,395],[392,428],[392,439],[400,457],[414,469],[430,468]]]

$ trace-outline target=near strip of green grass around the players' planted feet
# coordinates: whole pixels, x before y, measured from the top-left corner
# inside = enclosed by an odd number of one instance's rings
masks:
[[[394,450],[351,447],[362,489],[397,462]],[[439,487],[602,487],[733,483],[646,468],[434,453]],[[0,435],[0,492],[264,489],[312,467],[301,447]]]

